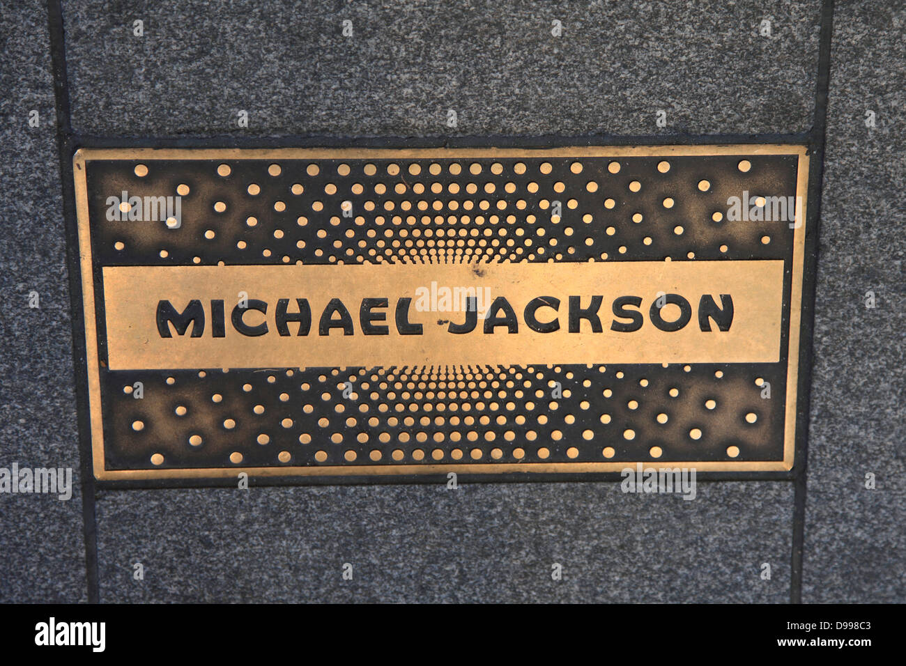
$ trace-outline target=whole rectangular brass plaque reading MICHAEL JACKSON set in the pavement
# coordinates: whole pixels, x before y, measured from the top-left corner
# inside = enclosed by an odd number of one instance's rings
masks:
[[[808,162],[79,150],[95,476],[789,470]]]

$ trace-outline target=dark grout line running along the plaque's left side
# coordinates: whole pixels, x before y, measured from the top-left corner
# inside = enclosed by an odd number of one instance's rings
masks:
[[[47,1],[47,24],[50,35],[51,67],[53,70],[53,97],[56,107],[56,140],[60,155],[60,181],[63,188],[63,217],[67,225],[72,225],[72,210],[75,207],[75,191],[72,182],[72,162],[70,161],[70,143],[72,140],[72,123],[69,105],[69,81],[66,77],[66,52],[63,43],[63,8],[60,0]],[[69,272],[70,303],[72,304],[72,353],[75,359],[75,391],[77,402],[77,419],[79,421],[79,458],[82,481],[82,538],[85,546],[85,584],[88,587],[88,603],[100,601],[100,584],[98,580],[98,537],[95,518],[95,485],[92,470],[91,442],[88,441],[88,402],[84,391],[82,359],[85,356],[84,344],[78,333],[83,327],[82,303],[79,271],[78,247],[66,244],[66,260]]]

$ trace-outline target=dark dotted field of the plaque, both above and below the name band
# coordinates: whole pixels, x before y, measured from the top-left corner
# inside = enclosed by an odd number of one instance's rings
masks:
[[[90,217],[101,220],[92,253],[97,271],[751,258],[789,266],[793,230],[730,221],[727,202],[743,191],[793,196],[796,166],[795,156],[772,155],[92,162]],[[182,197],[179,223],[106,221],[107,198],[121,191]],[[781,349],[787,322],[785,304]],[[785,353],[761,364],[112,372],[100,352],[109,469],[783,458]]]

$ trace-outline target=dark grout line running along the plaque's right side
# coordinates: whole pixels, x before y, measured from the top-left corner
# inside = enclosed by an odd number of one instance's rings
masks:
[[[818,47],[818,74],[815,82],[814,94],[814,124],[812,126],[812,140],[814,147],[813,169],[814,178],[810,178],[810,188],[814,196],[809,198],[813,202],[810,212],[812,217],[811,233],[817,235],[821,225],[821,195],[824,182],[824,142],[827,134],[827,99],[831,82],[831,38],[834,32],[834,0],[824,0],[821,8],[821,38]],[[814,304],[814,289],[817,282],[817,257],[818,243],[814,243],[814,257],[811,258],[811,281],[807,285],[808,294],[803,294],[807,303]],[[806,270],[806,273],[809,271]],[[812,347],[814,339],[814,306],[804,313],[808,330],[812,332],[806,341],[807,353],[800,353],[800,358],[808,359],[808,372],[805,374],[811,379],[811,365],[813,362]],[[793,500],[793,543],[792,559],[790,565],[790,603],[802,603],[802,581],[804,573],[804,548],[805,548],[805,497],[808,480],[808,419],[811,403],[811,390],[805,391],[805,404],[799,409],[800,418],[804,420],[803,438],[801,439],[802,466],[795,477],[795,497]]]

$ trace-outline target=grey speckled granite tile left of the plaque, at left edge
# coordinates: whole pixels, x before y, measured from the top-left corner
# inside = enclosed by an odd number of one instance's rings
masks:
[[[74,485],[68,501],[0,494],[0,601],[78,602],[82,502],[46,6],[0,9],[0,49],[0,468],[72,468]]]

